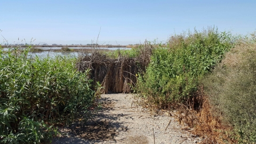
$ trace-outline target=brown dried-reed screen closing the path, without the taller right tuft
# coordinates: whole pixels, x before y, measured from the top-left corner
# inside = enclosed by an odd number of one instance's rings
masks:
[[[105,88],[102,93],[131,92],[131,85],[137,78],[135,74],[138,73],[134,59],[127,57],[108,59],[99,52],[87,55],[78,63],[78,70],[86,69],[91,69],[89,77],[93,79],[93,85],[99,82]]]

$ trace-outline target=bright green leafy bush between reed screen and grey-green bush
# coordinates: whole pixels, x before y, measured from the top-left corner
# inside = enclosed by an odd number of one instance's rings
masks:
[[[229,51],[231,36],[217,30],[174,35],[168,47],[155,49],[138,91],[151,106],[182,102],[197,90],[199,79]]]

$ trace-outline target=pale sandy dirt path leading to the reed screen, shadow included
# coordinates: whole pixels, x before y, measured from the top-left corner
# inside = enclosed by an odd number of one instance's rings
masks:
[[[198,143],[202,139],[177,122],[177,112],[152,115],[132,94],[103,94],[102,109],[83,124],[60,130],[52,143]]]

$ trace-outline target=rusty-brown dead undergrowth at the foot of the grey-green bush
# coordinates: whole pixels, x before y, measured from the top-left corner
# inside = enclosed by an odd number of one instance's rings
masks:
[[[203,87],[200,88],[201,90]],[[222,117],[215,115],[209,98],[203,91],[190,100],[190,106],[182,105],[179,109],[179,122],[192,127],[192,133],[204,138],[201,143],[236,143],[236,135],[231,132],[233,127],[223,123]],[[195,107],[196,106],[196,107]],[[195,107],[195,108],[194,108]]]

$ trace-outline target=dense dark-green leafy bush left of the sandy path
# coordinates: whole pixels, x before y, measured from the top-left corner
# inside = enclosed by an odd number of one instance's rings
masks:
[[[28,51],[0,49],[0,143],[50,140],[54,124],[72,121],[93,102],[76,59],[31,58]]]

